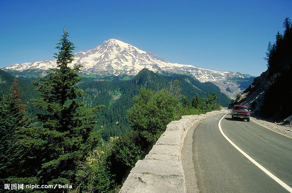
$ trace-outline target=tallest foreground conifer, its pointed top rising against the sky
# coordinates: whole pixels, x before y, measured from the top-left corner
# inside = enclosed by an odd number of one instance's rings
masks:
[[[81,80],[77,73],[82,66],[68,67],[75,47],[67,39],[69,32],[65,29],[63,32],[56,46],[57,68],[49,69],[47,76],[33,81],[36,90],[42,93],[41,99],[32,101],[42,112],[36,116],[43,126],[22,128],[19,142],[34,152],[41,152],[35,157],[40,160],[36,165],[39,183],[70,184],[74,188],[79,162],[100,143],[99,133],[93,130],[95,114],[103,105],[85,109],[86,102],[77,102],[78,97],[84,96],[76,86]]]

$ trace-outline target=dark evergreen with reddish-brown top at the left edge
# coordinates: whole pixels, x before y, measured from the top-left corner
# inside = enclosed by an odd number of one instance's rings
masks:
[[[18,81],[13,79],[10,92],[0,92],[0,181],[23,173],[19,166],[23,164],[23,156],[18,139],[18,127],[27,126],[29,119],[25,114],[24,102],[20,100]]]

